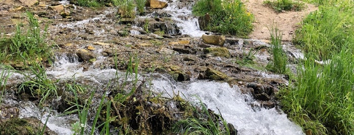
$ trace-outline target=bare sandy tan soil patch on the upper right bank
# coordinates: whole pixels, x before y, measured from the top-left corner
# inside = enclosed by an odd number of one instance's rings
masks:
[[[268,28],[270,29],[274,23],[282,31],[283,41],[291,41],[303,18],[310,12],[318,10],[318,7],[314,5],[305,4],[305,8],[302,11],[276,13],[271,7],[263,6],[263,1],[265,0],[246,1],[247,9],[255,17],[253,32],[249,35],[251,39],[269,39]]]

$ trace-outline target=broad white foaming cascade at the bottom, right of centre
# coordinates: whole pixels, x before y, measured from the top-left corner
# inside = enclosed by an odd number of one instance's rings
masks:
[[[239,134],[304,134],[301,127],[291,122],[287,115],[276,109],[252,109],[247,101],[253,99],[243,95],[238,86],[232,88],[227,83],[196,81],[190,84],[172,84],[167,79],[152,81],[153,89],[170,95],[181,92],[189,101],[199,102],[198,96],[208,108],[218,112],[232,123]],[[182,94],[180,94],[183,96]],[[255,101],[253,101],[255,102]],[[218,109],[217,109],[218,108]]]

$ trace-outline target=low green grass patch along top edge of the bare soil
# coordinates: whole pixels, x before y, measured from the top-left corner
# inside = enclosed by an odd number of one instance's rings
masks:
[[[277,0],[277,1],[264,1],[264,6],[273,8],[276,12],[284,11],[301,11],[305,8],[303,3],[293,2],[292,0]]]

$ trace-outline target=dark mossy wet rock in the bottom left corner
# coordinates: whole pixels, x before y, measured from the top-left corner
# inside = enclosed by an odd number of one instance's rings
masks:
[[[40,134],[44,124],[42,121],[29,117],[29,118],[11,118],[5,122],[0,122],[0,134]],[[43,134],[57,134],[56,132],[50,130],[48,127],[45,128]]]

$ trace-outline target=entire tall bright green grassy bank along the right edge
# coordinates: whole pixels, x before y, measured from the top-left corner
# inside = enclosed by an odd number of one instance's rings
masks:
[[[354,134],[354,2],[310,2],[319,10],[304,19],[293,40],[307,59],[294,87],[281,92],[283,109],[312,134]]]

